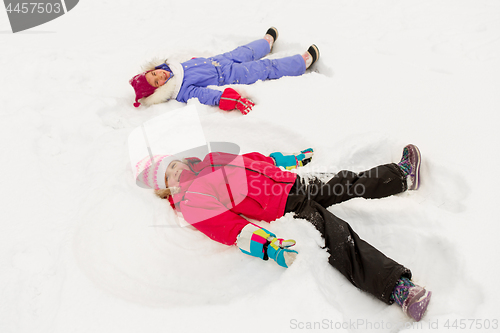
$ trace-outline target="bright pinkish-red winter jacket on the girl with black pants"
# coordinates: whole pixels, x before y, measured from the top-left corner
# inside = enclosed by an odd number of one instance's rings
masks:
[[[249,223],[240,215],[267,222],[282,217],[297,177],[260,153],[210,153],[189,166],[171,203],[188,223],[227,245],[235,244]]]

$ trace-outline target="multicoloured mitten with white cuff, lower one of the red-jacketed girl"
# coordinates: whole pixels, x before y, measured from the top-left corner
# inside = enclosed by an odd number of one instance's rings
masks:
[[[298,254],[297,251],[288,249],[295,245],[293,239],[276,238],[272,232],[251,223],[241,230],[236,245],[243,253],[263,260],[272,258],[283,267],[290,266]]]

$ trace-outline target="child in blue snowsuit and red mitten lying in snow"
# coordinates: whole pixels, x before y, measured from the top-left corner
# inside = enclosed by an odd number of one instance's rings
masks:
[[[130,80],[136,93],[134,106],[149,106],[171,99],[186,103],[191,98],[198,98],[202,104],[217,105],[222,110],[237,108],[247,114],[255,104],[234,89],[220,91],[207,87],[299,76],[319,57],[318,48],[312,45],[303,55],[261,59],[271,51],[276,38],[276,28],[270,28],[263,39],[221,55],[193,58],[183,63],[151,62],[145,72]]]

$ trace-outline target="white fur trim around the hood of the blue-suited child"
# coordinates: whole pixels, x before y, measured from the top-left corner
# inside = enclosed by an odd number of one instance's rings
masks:
[[[181,90],[182,82],[184,81],[184,69],[178,62],[169,63],[159,59],[153,59],[143,66],[144,71],[153,70],[156,66],[166,63],[174,73],[174,76],[167,81],[163,86],[155,90],[155,92],[148,97],[141,98],[141,104],[151,106],[153,104],[163,103],[170,99],[175,99]]]

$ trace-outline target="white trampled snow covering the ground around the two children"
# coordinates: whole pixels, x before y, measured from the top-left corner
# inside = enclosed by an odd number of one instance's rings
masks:
[[[17,34],[0,12],[0,332],[498,326],[498,1],[80,1]],[[186,107],[134,108],[141,64],[219,54],[271,25],[270,57],[315,43],[312,71],[237,87],[256,103],[247,116],[188,105],[209,140],[244,152],[313,147],[301,173],[362,171],[418,145],[419,191],[330,208],[432,290],[418,325],[333,270],[303,220],[269,226],[297,241],[285,270],[173,227],[134,184],[129,134]]]

